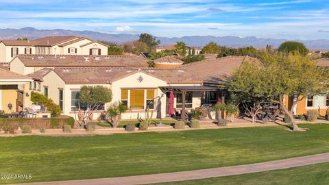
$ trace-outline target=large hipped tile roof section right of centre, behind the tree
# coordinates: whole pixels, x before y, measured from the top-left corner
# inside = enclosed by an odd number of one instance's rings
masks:
[[[258,61],[256,58],[244,56],[230,56],[224,58],[210,58],[199,62],[182,65],[186,71],[202,78],[205,83],[222,84],[228,79],[243,61]]]

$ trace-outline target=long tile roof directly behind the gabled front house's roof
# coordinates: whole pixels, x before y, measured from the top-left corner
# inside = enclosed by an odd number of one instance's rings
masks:
[[[145,67],[147,60],[138,56],[19,55],[27,67]]]

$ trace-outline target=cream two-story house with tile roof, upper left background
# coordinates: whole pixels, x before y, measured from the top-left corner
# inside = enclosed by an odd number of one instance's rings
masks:
[[[105,56],[108,46],[79,36],[48,36],[34,40],[1,40],[0,62],[10,62],[19,54]]]

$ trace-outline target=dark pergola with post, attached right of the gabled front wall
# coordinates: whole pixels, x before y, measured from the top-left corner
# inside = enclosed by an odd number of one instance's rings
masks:
[[[185,121],[186,92],[219,92],[223,89],[214,86],[161,86],[159,88],[164,92],[182,93],[182,121]],[[223,95],[221,98],[223,100]]]

